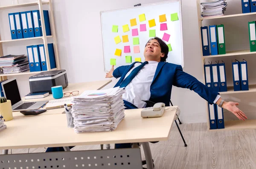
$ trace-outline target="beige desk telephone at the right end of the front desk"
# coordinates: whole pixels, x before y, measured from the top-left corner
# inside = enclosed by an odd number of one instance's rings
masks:
[[[165,103],[155,103],[153,107],[147,107],[141,111],[141,117],[161,117],[164,113]]]

